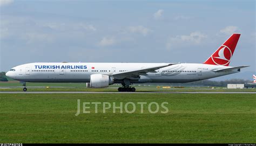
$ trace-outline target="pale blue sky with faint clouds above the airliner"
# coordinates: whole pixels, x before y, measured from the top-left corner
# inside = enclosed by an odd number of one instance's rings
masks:
[[[255,1],[0,0],[0,16],[0,71],[29,62],[203,63],[241,33],[230,66],[256,72]]]

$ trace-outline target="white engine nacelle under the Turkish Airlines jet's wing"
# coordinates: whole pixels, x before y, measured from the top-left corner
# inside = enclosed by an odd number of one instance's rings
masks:
[[[112,84],[114,84],[114,80],[109,75],[92,74],[91,81],[87,82],[86,86],[88,88],[104,88]]]

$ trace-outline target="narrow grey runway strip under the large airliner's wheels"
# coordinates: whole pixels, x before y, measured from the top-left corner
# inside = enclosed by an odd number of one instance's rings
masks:
[[[0,94],[256,94],[256,92],[0,92]]]

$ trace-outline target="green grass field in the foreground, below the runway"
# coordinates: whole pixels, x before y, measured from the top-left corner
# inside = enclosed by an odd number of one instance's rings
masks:
[[[167,114],[77,111],[81,102],[169,102]],[[0,94],[2,143],[256,143],[253,94]],[[160,108],[161,110],[161,108]]]

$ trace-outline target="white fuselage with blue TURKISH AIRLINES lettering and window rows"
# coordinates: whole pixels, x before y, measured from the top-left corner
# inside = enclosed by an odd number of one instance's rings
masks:
[[[19,65],[6,75],[24,82],[90,82],[92,74],[114,76],[114,83],[122,83],[125,77],[114,75],[140,68],[165,65],[165,63],[51,63],[40,62]],[[131,83],[145,82],[191,82],[226,74],[237,73],[240,70],[214,72],[214,69],[231,68],[229,66],[207,64],[175,64],[157,69],[154,72],[140,73],[138,77],[129,77]]]

